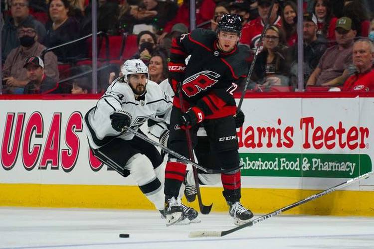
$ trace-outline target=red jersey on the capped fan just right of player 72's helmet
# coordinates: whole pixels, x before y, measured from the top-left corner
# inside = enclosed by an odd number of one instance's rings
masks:
[[[282,20],[280,16],[277,16],[277,19],[275,20],[273,25],[277,25],[279,27],[282,26]],[[251,49],[256,49],[256,47],[258,46],[258,42],[260,41],[262,29],[264,29],[264,23],[261,17],[257,17],[256,19],[251,20],[249,23],[243,26],[240,43],[249,45]]]

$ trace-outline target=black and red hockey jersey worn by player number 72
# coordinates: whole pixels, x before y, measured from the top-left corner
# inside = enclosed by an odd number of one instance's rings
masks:
[[[191,55],[188,65],[185,59]],[[233,93],[247,76],[250,49],[235,46],[228,53],[217,47],[217,33],[195,29],[189,34],[173,39],[169,62],[169,81],[176,92],[178,82],[183,82],[186,105],[199,107],[205,119],[234,115],[236,104]],[[180,107],[178,94],[174,105]]]

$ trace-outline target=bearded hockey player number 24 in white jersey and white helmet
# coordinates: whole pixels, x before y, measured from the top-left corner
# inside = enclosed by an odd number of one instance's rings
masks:
[[[163,184],[157,177],[163,158],[154,145],[126,131],[126,127],[138,129],[155,117],[169,124],[172,100],[155,82],[148,80],[148,68],[143,61],[127,60],[121,71],[123,77],[114,80],[85,115],[89,146],[99,160],[119,174],[131,175],[165,217]],[[138,132],[143,133],[140,129]],[[166,146],[168,128],[154,132],[158,132],[160,142]],[[188,208],[188,211],[188,219],[197,217],[195,210]]]

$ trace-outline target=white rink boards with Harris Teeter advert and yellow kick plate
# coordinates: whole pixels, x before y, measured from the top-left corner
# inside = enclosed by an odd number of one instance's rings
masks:
[[[0,97],[0,206],[153,209],[89,153],[82,117],[97,96],[38,98]],[[255,213],[372,170],[373,94],[251,95],[242,110],[242,202]],[[227,210],[221,191],[202,188],[213,211]],[[373,191],[371,177],[288,213],[373,216]]]

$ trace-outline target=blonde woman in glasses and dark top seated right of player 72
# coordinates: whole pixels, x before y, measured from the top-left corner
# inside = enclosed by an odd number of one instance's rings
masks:
[[[286,38],[277,25],[265,31],[264,48],[257,57],[251,79],[263,86],[288,86],[290,68],[286,62]]]

